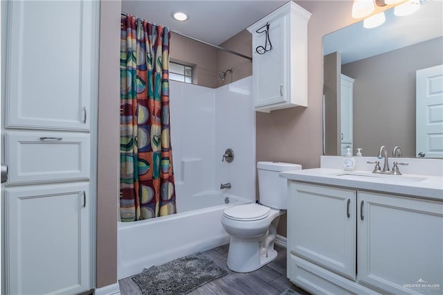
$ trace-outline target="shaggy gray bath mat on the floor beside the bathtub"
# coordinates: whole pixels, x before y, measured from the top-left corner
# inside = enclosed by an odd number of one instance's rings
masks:
[[[145,295],[177,295],[188,294],[227,273],[213,260],[195,253],[145,269],[141,274],[132,276],[132,280]]]

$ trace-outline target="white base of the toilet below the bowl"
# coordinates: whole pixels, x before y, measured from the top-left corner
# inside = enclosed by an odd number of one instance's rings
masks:
[[[260,241],[258,238],[242,239],[230,237],[228,251],[228,268],[235,272],[251,272],[277,258],[277,251],[269,249],[260,255]]]

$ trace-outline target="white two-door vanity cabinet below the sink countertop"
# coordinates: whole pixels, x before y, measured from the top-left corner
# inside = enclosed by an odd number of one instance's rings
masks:
[[[293,283],[314,294],[442,293],[442,202],[294,181],[289,197]]]

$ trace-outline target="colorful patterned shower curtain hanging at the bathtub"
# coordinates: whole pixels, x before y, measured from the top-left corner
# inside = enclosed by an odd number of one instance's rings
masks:
[[[176,213],[169,120],[168,28],[122,15],[120,219]]]

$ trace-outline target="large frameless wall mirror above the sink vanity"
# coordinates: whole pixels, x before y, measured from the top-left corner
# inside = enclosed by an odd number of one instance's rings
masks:
[[[403,157],[443,156],[442,14],[442,1],[408,16],[391,8],[377,28],[360,21],[323,37],[324,154],[350,147],[377,156],[386,145],[389,153],[399,146]],[[433,105],[422,107],[426,91]]]

